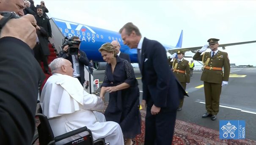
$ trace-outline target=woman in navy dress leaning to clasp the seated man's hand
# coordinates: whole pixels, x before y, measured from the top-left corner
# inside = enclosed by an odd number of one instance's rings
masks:
[[[102,58],[107,62],[105,78],[101,86],[100,96],[109,92],[109,104],[105,111],[107,121],[117,122],[122,129],[126,145],[132,145],[132,139],[140,134],[140,91],[132,65],[116,55],[111,43],[99,48]]]

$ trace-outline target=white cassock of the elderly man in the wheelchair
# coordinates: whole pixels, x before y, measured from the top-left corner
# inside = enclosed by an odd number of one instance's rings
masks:
[[[105,138],[110,145],[124,145],[122,130],[116,122],[105,120],[102,113],[104,102],[94,94],[88,94],[77,78],[53,74],[48,78],[41,93],[40,105],[49,119],[54,136],[87,126],[94,140]],[[56,145],[87,135],[83,132],[61,140]]]

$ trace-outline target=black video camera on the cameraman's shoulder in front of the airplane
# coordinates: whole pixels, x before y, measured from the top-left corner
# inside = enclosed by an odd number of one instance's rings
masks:
[[[64,46],[68,45],[69,51],[66,53],[70,55],[77,55],[79,53],[80,43],[81,41],[72,41],[69,37],[66,36],[63,40],[62,49],[64,48]]]

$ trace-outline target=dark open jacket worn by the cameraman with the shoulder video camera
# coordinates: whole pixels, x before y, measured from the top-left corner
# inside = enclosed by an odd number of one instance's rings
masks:
[[[80,59],[78,59],[79,62],[79,70],[80,70],[80,77],[81,77],[81,84],[83,84],[85,82],[85,70],[84,70],[84,66],[88,66],[89,65],[89,60],[85,54],[84,51],[79,50],[80,53]],[[68,59],[71,63],[72,63],[72,67],[73,66],[73,60],[72,60],[72,56],[69,55],[67,56],[63,51],[60,52],[60,56],[63,57],[64,59]]]

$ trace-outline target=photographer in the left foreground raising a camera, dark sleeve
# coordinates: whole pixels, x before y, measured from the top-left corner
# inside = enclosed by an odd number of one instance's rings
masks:
[[[0,2],[0,11],[22,15],[19,5],[24,5],[24,0]],[[31,50],[36,44],[33,20],[33,15],[28,14],[1,24],[0,145],[28,145],[35,132],[36,101],[43,73]]]

